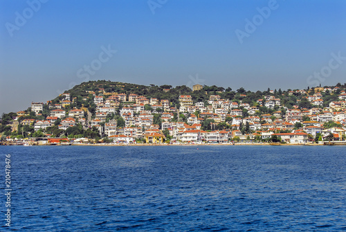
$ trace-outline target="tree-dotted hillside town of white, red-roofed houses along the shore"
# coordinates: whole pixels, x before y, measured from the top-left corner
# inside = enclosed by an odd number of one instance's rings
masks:
[[[282,91],[83,82],[1,116],[1,141],[321,143],[346,140],[346,84]]]

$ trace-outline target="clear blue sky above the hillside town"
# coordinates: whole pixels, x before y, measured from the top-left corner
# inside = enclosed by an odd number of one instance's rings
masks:
[[[346,82],[344,0],[2,0],[0,10],[0,114],[84,80],[252,91]]]

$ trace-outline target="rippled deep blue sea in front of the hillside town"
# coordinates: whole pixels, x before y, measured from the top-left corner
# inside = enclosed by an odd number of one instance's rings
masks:
[[[345,148],[1,146],[0,231],[346,231]]]

